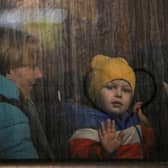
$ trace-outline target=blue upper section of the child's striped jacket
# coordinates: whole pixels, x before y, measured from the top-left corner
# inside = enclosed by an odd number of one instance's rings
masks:
[[[107,114],[95,108],[72,103],[64,104],[64,114],[66,124],[71,133],[79,128],[98,129],[100,122],[106,121],[108,118],[115,120],[117,130],[123,130],[139,124],[137,116],[128,112],[124,112],[120,117],[117,117],[114,114]]]

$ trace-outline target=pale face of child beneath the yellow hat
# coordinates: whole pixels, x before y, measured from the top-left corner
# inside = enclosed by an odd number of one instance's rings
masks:
[[[132,88],[124,80],[108,82],[99,92],[96,104],[106,113],[125,112],[132,100]]]

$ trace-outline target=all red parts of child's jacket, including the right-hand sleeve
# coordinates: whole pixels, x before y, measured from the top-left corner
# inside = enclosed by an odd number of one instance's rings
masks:
[[[145,157],[148,157],[153,139],[153,129],[142,126],[144,138]],[[97,141],[84,138],[75,138],[69,141],[70,155],[75,159],[104,159],[104,151]],[[109,158],[109,156],[108,156]],[[140,143],[125,144],[120,146],[111,159],[143,159],[142,145]]]

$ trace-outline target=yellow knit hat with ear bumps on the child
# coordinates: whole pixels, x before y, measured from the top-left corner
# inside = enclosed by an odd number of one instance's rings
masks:
[[[127,81],[134,93],[135,73],[124,58],[96,55],[92,59],[91,68],[88,94],[93,101],[95,101],[97,93],[107,82],[116,79]]]

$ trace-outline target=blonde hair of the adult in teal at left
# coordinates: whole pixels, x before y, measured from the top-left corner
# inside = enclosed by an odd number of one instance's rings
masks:
[[[0,74],[6,75],[10,69],[36,64],[40,53],[39,41],[34,36],[0,28]]]

